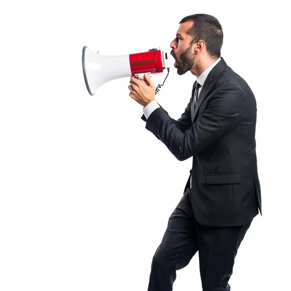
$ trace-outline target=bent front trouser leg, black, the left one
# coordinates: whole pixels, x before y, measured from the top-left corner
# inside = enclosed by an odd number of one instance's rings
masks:
[[[151,264],[148,291],[172,291],[176,271],[186,267],[198,250],[189,190],[171,214]]]

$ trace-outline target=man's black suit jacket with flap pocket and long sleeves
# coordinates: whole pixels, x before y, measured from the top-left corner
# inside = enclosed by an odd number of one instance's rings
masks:
[[[194,108],[195,83],[178,120],[160,104],[148,119],[144,114],[141,118],[179,161],[193,157],[185,190],[192,177],[197,222],[204,226],[246,224],[259,211],[262,215],[255,96],[223,58],[210,71]]]

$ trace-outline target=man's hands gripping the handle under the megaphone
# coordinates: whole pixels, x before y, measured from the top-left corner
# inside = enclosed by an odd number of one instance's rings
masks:
[[[129,83],[129,96],[140,105],[146,107],[148,103],[155,100],[155,84],[147,74],[145,80],[131,77]]]

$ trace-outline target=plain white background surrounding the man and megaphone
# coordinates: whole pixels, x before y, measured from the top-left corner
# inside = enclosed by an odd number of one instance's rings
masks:
[[[0,290],[146,291],[152,256],[189,177],[140,118],[129,78],[87,92],[83,46],[168,49],[178,22],[216,16],[222,57],[257,99],[262,212],[233,291],[290,290],[290,22],[287,1],[10,1],[1,4]],[[162,84],[166,71],[153,76]],[[196,77],[172,67],[156,96],[171,117]],[[274,83],[273,83],[274,82]],[[198,255],[174,291],[202,290]]]

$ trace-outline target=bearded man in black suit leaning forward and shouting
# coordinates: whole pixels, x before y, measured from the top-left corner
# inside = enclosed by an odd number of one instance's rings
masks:
[[[179,75],[197,77],[178,120],[155,101],[147,76],[131,77],[129,96],[144,106],[142,119],[171,153],[193,157],[183,197],[154,254],[148,291],[171,291],[176,271],[199,253],[203,291],[229,291],[234,259],[253,218],[261,214],[256,157],[256,99],[220,56],[223,31],[210,15],[184,17],[171,55]],[[259,208],[259,211],[258,211]]]

